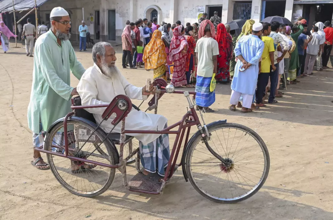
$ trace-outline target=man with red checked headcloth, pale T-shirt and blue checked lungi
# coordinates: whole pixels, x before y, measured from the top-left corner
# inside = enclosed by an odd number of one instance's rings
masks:
[[[215,102],[215,91],[210,91],[210,81],[213,73],[217,70],[217,55],[219,55],[217,41],[214,40],[215,28],[213,23],[205,20],[201,23],[204,25],[204,30],[201,29],[199,36],[202,36],[195,47],[197,76],[195,85],[195,102],[198,109],[204,109],[205,112],[214,112],[208,108]],[[200,32],[200,30],[199,30]],[[198,110],[197,109],[197,110]]]

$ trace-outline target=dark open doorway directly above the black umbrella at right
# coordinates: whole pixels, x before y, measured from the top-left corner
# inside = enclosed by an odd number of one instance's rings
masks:
[[[261,18],[267,18],[271,16],[284,17],[284,12],[286,9],[286,1],[262,1]]]

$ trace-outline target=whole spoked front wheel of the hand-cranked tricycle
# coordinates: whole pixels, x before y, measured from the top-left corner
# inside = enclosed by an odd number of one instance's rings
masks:
[[[207,149],[200,134],[192,138],[185,159],[189,181],[201,195],[214,202],[236,203],[254,195],[269,171],[264,141],[248,127],[234,123],[207,125],[209,146],[230,166]]]

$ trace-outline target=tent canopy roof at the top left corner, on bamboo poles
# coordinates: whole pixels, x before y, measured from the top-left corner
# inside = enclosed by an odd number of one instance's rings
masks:
[[[36,0],[37,7],[41,6],[48,0]],[[29,10],[35,7],[35,0],[14,0],[15,10]],[[13,0],[0,0],[0,13],[13,11]]]

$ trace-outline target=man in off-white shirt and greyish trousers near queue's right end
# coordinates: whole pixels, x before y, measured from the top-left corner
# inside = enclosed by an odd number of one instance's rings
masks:
[[[316,61],[317,56],[320,55],[322,50],[321,36],[318,34],[318,27],[315,26],[312,28],[312,39],[307,36],[308,46],[306,48],[306,57],[304,65],[304,75],[313,75],[312,69],[314,62]]]

